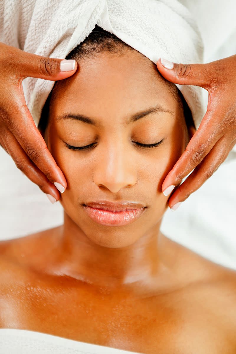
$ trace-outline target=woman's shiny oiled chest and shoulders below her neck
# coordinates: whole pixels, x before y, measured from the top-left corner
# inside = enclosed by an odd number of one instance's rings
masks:
[[[94,286],[48,274],[61,227],[0,242],[0,325],[140,353],[236,352],[236,272],[178,250],[176,281],[151,289]]]

